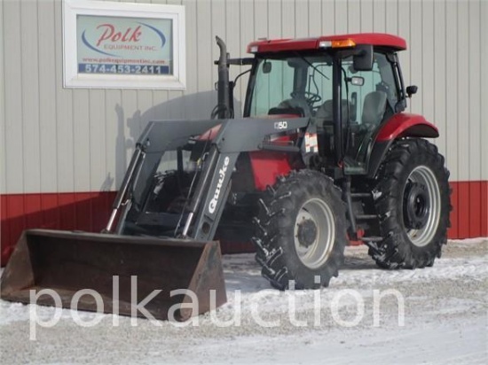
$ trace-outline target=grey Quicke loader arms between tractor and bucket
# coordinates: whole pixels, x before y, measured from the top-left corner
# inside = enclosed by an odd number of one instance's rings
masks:
[[[191,202],[185,209],[183,230],[177,237],[198,240],[213,239],[220,217],[224,211],[232,180],[232,171],[241,152],[271,150],[300,152],[296,145],[277,146],[266,142],[266,137],[277,133],[304,130],[309,125],[308,118],[230,119],[201,121],[152,121],[138,140],[143,158],[138,158],[139,166],[128,169],[121,187],[125,198],[117,197],[115,203],[125,201],[119,215],[117,232],[124,232],[126,216],[132,206],[144,206],[151,194],[152,179],[161,157],[168,151],[183,148],[191,137],[200,136],[217,124],[216,136],[208,138],[208,149],[202,153],[204,163],[192,194]],[[286,126],[286,127],[285,127]],[[135,151],[134,156],[141,152]],[[118,209],[120,206],[114,206]],[[143,214],[143,212],[139,212]],[[161,215],[161,220],[169,217]],[[175,219],[175,218],[173,218]]]

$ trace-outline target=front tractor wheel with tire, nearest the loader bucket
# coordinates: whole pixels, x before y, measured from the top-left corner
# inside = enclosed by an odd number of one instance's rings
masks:
[[[338,275],[347,244],[345,206],[332,179],[302,170],[280,177],[260,200],[256,261],[273,287],[327,286]]]

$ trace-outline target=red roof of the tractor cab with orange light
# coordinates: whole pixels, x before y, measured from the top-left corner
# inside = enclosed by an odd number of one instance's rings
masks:
[[[315,38],[259,40],[248,44],[248,53],[280,52],[287,50],[319,50],[347,48],[356,44],[372,44],[391,50],[406,50],[405,39],[385,33],[358,33],[350,35],[322,35]]]

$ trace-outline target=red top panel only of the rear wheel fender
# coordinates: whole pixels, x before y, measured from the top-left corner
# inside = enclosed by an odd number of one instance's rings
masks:
[[[404,136],[437,138],[439,131],[421,115],[397,113],[385,123],[376,141],[385,142]]]

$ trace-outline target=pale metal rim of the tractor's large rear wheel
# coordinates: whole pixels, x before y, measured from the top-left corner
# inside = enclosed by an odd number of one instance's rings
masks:
[[[413,245],[429,245],[436,235],[441,196],[436,175],[429,167],[415,167],[404,190],[404,224]]]

